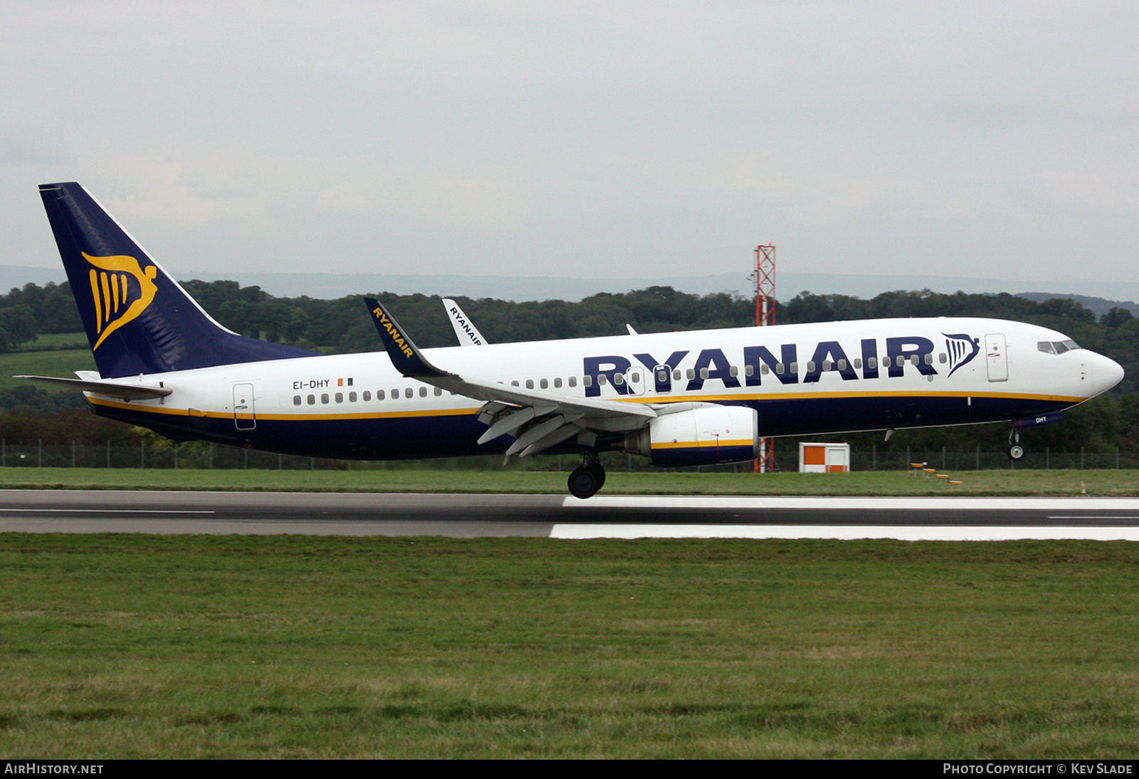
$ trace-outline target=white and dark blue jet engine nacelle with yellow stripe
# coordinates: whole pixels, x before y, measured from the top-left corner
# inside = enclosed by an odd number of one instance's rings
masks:
[[[754,460],[759,418],[746,405],[705,405],[663,413],[625,435],[625,451],[658,466],[715,465]]]

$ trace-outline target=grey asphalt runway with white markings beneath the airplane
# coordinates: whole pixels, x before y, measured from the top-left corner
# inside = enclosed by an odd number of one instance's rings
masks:
[[[1139,499],[0,490],[0,532],[1134,541]]]

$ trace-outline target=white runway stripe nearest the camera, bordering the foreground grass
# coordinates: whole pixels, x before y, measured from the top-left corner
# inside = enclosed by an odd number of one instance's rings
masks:
[[[894,539],[898,541],[1139,541],[1139,527],[943,525],[554,525],[551,539]]]

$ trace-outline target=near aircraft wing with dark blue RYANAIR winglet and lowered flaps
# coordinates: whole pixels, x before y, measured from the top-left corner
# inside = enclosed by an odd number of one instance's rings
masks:
[[[490,427],[478,443],[515,435],[516,441],[507,456],[536,454],[575,435],[582,443],[592,445],[599,432],[634,430],[657,416],[641,403],[566,397],[441,370],[423,355],[385,306],[374,297],[366,297],[364,303],[395,369],[425,384],[485,401],[478,418]]]

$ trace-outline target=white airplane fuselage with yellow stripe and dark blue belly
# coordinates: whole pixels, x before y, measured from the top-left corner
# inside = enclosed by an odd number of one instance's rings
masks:
[[[667,409],[743,404],[761,435],[1043,417],[1111,388],[1117,363],[1042,327],[973,318],[885,319],[425,350],[460,376],[566,399]],[[1071,342],[1067,342],[1071,343]],[[1063,351],[1063,353],[1055,353]],[[484,451],[482,401],[401,376],[385,352],[156,374],[173,390],[108,417],[169,435],[319,457],[407,459]],[[631,418],[631,428],[644,425]],[[492,449],[501,445],[489,444]]]

